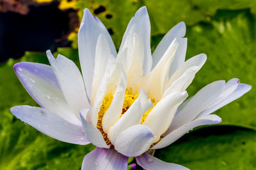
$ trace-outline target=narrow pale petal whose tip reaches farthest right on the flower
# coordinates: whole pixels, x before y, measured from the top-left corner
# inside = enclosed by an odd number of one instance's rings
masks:
[[[198,117],[202,117],[203,115],[211,114],[212,112],[218,110],[219,108],[225,106],[226,104],[228,104],[228,103],[238,99],[239,97],[243,96],[244,94],[246,94],[246,92],[248,92],[251,89],[252,89],[252,86],[246,85],[246,84],[243,84],[243,83],[239,83],[236,90],[234,90],[234,92],[232,92],[232,94],[230,94],[230,96],[226,97],[223,101],[220,101],[220,103],[218,103],[218,104],[212,106],[211,108],[205,110]]]

